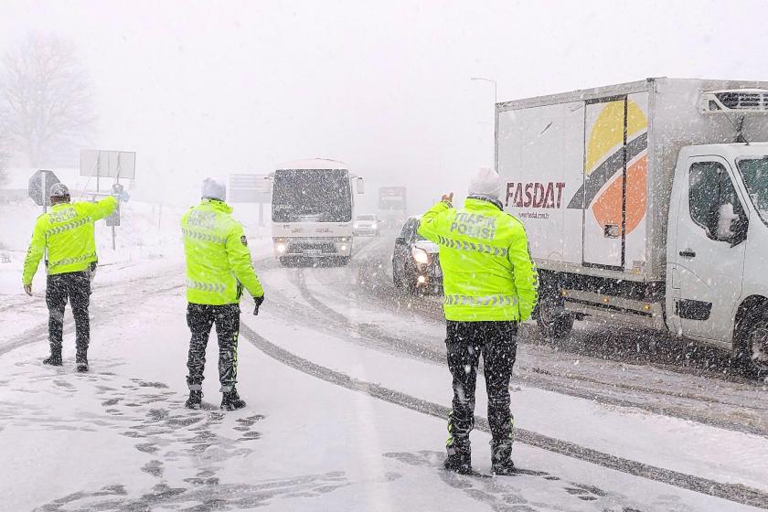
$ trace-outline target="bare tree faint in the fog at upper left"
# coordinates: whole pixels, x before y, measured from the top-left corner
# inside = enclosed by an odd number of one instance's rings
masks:
[[[29,165],[76,155],[93,129],[91,82],[75,50],[58,37],[31,35],[5,54],[0,112],[15,153]]]

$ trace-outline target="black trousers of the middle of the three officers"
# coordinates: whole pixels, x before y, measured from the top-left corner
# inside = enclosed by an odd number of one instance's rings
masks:
[[[206,367],[206,347],[210,328],[216,325],[219,337],[219,382],[221,391],[229,392],[238,380],[238,333],[240,333],[239,304],[187,304],[187,325],[192,332],[187,357],[187,385],[201,390]]]

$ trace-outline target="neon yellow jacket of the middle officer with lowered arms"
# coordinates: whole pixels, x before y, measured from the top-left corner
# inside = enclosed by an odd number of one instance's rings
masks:
[[[253,297],[264,294],[242,226],[231,213],[222,201],[203,199],[181,219],[189,303],[238,304],[243,287]]]

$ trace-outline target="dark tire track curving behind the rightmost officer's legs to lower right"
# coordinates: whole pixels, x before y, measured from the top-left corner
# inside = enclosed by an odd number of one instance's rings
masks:
[[[274,345],[264,337],[256,334],[248,325],[240,323],[240,334],[251,344],[261,350],[265,355],[294,368],[316,379],[325,380],[336,386],[351,389],[370,397],[387,401],[411,411],[421,412],[428,416],[445,419],[448,417],[449,408],[437,403],[421,400],[406,393],[385,388],[379,384],[365,380],[353,379],[347,374],[331,368],[325,368],[304,357],[299,357],[293,352]],[[475,428],[480,432],[490,433],[488,421],[485,418],[475,416]],[[518,443],[528,444],[548,452],[558,453],[584,462],[598,464],[614,471],[620,471],[628,475],[639,476],[648,480],[661,482],[662,484],[693,491],[702,495],[719,497],[741,505],[768,509],[768,493],[741,484],[723,484],[708,478],[695,475],[687,475],[677,471],[644,464],[623,457],[617,457],[610,453],[603,453],[591,448],[585,448],[576,443],[562,441],[553,437],[531,432],[524,429],[516,429],[515,438]]]

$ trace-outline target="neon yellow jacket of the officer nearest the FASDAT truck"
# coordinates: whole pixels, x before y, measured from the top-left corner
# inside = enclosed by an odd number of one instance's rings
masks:
[[[485,199],[446,202],[421,218],[419,234],[440,247],[445,318],[459,322],[527,320],[539,277],[523,224]]]

